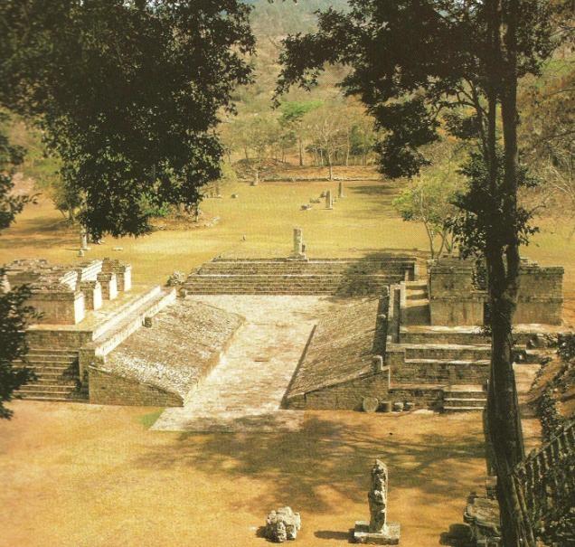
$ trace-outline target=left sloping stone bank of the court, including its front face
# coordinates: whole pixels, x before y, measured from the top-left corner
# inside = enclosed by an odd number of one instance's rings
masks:
[[[164,392],[167,404],[181,406],[219,363],[242,322],[200,302],[175,302],[118,345],[105,364],[90,367],[90,401],[156,404],[152,393]],[[130,382],[150,389],[134,389]]]

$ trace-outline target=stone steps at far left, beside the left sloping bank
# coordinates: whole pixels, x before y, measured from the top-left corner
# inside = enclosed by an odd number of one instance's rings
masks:
[[[88,393],[79,388],[78,352],[60,348],[30,349],[14,368],[33,369],[36,379],[15,394],[32,401],[87,401]]]

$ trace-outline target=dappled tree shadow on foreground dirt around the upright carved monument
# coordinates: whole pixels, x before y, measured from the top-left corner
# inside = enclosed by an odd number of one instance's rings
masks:
[[[438,418],[431,418],[429,426],[438,427]],[[452,498],[458,481],[464,488],[468,477],[454,474],[446,462],[463,460],[463,467],[476,467],[476,458],[484,456],[480,427],[457,434],[429,430],[411,436],[401,421],[377,416],[347,425],[311,416],[302,429],[277,433],[183,433],[172,444],[139,457],[134,465],[150,471],[187,466],[230,480],[264,479],[265,491],[254,492],[242,506],[258,510],[288,502],[300,511],[327,513],[333,507],[320,490],[328,487],[336,496],[363,502],[373,459],[382,457],[392,470],[392,488],[416,488],[436,502]]]

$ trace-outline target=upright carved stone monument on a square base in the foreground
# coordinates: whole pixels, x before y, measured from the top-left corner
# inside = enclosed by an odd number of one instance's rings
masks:
[[[372,467],[372,486],[367,495],[370,504],[370,522],[357,521],[353,531],[354,543],[399,545],[400,524],[387,522],[387,466],[376,459]]]

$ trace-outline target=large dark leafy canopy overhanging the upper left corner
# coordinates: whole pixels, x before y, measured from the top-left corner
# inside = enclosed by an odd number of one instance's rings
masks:
[[[0,105],[41,125],[94,235],[146,233],[150,202],[193,206],[219,177],[213,129],[250,81],[249,14],[240,0],[0,3]]]

